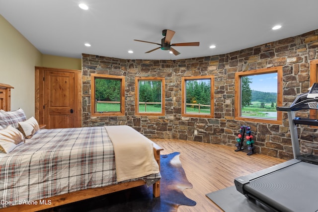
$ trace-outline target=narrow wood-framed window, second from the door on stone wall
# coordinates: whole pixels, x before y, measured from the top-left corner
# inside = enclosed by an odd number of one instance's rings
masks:
[[[135,78],[135,114],[164,116],[164,77]]]

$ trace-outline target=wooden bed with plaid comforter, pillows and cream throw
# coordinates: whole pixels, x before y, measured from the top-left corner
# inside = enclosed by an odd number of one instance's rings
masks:
[[[162,148],[129,126],[40,130],[18,109],[0,111],[0,132],[6,129],[24,141],[0,153],[0,212],[39,211],[145,184],[160,195]]]

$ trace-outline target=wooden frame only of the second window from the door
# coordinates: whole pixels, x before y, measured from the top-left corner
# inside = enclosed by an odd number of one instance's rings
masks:
[[[161,81],[161,112],[156,113],[156,112],[139,112],[139,81],[144,80],[144,81]],[[148,116],[164,116],[165,115],[165,80],[164,77],[135,77],[135,115],[138,116],[143,116],[143,115],[148,115]]]

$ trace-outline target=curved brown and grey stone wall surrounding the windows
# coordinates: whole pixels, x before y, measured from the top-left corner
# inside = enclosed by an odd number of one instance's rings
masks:
[[[283,105],[288,106],[295,96],[307,92],[310,61],[318,58],[317,52],[318,30],[224,55],[176,61],[124,60],[83,54],[83,126],[129,125],[148,138],[219,143],[235,149],[239,127],[246,125],[252,129],[256,152],[290,159],[293,155],[287,113],[283,113],[282,125],[234,119],[235,73],[283,66]],[[90,73],[126,76],[126,116],[90,117]],[[181,77],[199,75],[215,76],[213,119],[181,117]],[[135,116],[135,76],[165,77],[165,116]],[[308,114],[304,112],[302,117]],[[316,131],[299,127],[304,151],[318,149],[313,134]]]

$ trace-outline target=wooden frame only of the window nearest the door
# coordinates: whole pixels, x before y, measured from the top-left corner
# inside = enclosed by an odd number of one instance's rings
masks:
[[[95,78],[119,79],[120,82],[120,112],[95,112]],[[90,74],[90,112],[92,117],[98,116],[125,116],[125,76],[108,74]]]

